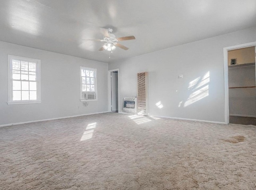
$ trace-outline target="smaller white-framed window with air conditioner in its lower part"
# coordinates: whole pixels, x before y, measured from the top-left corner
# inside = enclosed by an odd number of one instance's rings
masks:
[[[97,70],[80,67],[81,92],[80,101],[97,100]]]

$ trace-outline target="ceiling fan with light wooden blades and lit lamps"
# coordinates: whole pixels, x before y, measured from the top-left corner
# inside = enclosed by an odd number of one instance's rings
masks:
[[[124,41],[124,40],[135,40],[134,36],[125,36],[125,37],[116,38],[114,34],[111,34],[111,32],[113,32],[111,28],[108,28],[108,29],[102,28],[102,32],[104,34],[104,38],[103,40],[98,40],[98,41],[106,42],[106,43],[99,49],[99,51],[107,50],[112,52],[113,50],[116,49],[116,46],[123,50],[128,50],[129,48],[127,48],[126,46],[123,46],[122,44],[119,44],[118,42]]]

